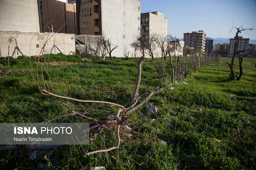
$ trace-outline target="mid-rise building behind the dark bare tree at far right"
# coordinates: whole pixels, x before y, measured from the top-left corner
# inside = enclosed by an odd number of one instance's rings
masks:
[[[243,38],[243,37],[238,37],[238,41],[237,41],[237,45],[238,45],[238,49],[237,50],[247,50],[248,49],[248,44],[249,44],[249,38]],[[230,50],[229,50],[229,54],[233,55],[234,53],[234,49],[235,49],[235,37],[232,39],[229,39],[230,43]],[[247,51],[244,51],[241,53],[242,55],[247,55]]]

